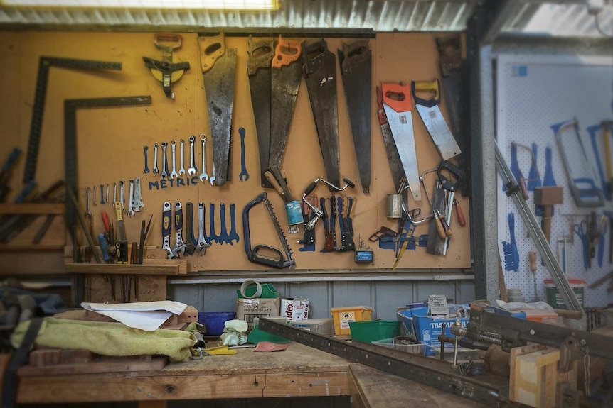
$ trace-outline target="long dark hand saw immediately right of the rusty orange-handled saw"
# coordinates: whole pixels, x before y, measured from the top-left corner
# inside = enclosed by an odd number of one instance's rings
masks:
[[[307,81],[311,111],[315,119],[326,178],[339,185],[339,112],[336,106],[336,60],[321,38],[302,43],[304,78]],[[335,190],[331,188],[331,192]]]

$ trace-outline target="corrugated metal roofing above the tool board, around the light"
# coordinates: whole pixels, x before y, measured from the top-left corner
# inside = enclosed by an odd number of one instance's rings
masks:
[[[481,0],[285,0],[271,12],[0,7],[0,24],[463,31]]]

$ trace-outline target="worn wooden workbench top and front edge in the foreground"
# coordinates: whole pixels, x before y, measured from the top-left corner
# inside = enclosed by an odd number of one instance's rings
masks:
[[[243,348],[156,371],[19,377],[17,403],[138,401],[139,407],[161,408],[179,399],[343,395],[351,395],[356,407],[395,407],[394,401],[403,408],[480,406],[299,343],[274,353]]]

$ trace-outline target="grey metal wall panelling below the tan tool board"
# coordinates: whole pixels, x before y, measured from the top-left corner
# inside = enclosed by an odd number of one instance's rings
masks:
[[[200,311],[233,311],[238,287],[235,284],[170,285],[168,298]],[[395,307],[427,300],[430,294],[444,294],[455,303],[474,300],[474,283],[470,280],[275,282],[274,287],[283,297],[308,297],[312,318],[330,317],[331,307],[364,305],[375,309],[373,318],[395,320]]]

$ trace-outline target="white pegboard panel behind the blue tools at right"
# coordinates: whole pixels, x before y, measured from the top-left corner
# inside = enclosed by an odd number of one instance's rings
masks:
[[[574,141],[572,157],[569,158],[572,161],[572,171],[577,173],[573,174],[573,177],[590,175],[595,177],[597,186],[601,186],[587,128],[613,119],[613,57],[499,55],[496,92],[496,139],[508,165],[511,165],[512,142],[528,147],[536,143],[537,167],[542,182],[545,176],[545,148],[552,149],[551,164],[555,184],[564,187],[564,203],[554,207],[551,223],[550,246],[553,253],[558,255],[558,238],[563,243],[563,236],[570,236],[571,228],[570,220],[562,214],[587,215],[590,211],[602,214],[604,210],[613,211],[613,203],[605,200],[604,208],[595,209],[579,208],[575,205],[551,126],[573,118],[578,120],[580,138],[588,159],[587,163],[581,159],[580,145]],[[528,178],[531,155],[523,148],[518,148],[517,153],[519,169],[523,176]],[[498,187],[499,250],[503,270],[505,254],[502,242],[509,242],[511,238],[507,223],[507,216],[511,212],[515,218],[515,239],[519,255],[517,270],[505,270],[506,286],[520,287],[528,301],[534,298],[533,273],[528,262],[528,251],[537,249],[532,238],[527,236],[527,228],[512,200],[503,192],[500,177]],[[534,193],[528,192],[528,196],[528,206],[534,209]],[[585,216],[575,219],[575,224],[582,219],[585,219]],[[604,240],[602,266],[598,265],[598,259],[595,258],[592,259],[592,268],[584,267],[582,240],[576,234],[573,243],[567,242],[567,276],[586,282],[585,307],[604,306],[613,302],[613,294],[607,292],[608,282],[594,290],[587,288],[587,285],[607,275],[613,268],[613,265],[609,264],[608,228],[607,219],[607,231],[601,238]],[[562,247],[560,244],[560,249]],[[540,256],[537,264],[537,297],[546,300],[543,280],[549,277],[549,272],[541,263]]]

